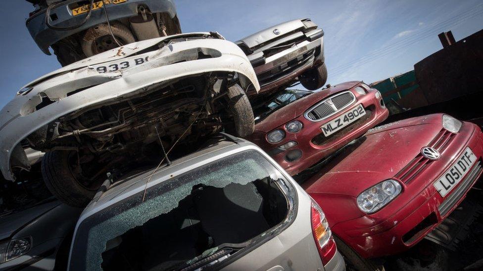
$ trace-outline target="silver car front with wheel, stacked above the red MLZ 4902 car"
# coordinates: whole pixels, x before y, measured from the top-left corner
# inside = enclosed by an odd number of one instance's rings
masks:
[[[296,81],[316,90],[327,81],[324,31],[310,19],[269,27],[235,43],[248,56],[262,92]]]

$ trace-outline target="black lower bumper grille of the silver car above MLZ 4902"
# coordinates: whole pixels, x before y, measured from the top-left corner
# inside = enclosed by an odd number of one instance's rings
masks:
[[[258,82],[261,86],[265,86],[279,80],[280,78],[290,75],[308,62],[313,62],[314,52],[315,48],[295,57],[294,59],[289,60],[286,63],[282,63],[279,66],[268,70],[267,72],[257,75]]]

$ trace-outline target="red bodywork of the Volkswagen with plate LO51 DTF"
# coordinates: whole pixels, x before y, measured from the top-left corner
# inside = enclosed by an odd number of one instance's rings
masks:
[[[401,194],[386,206],[369,215],[357,207],[356,197],[364,190],[387,179],[400,181],[394,176],[400,176],[397,173],[443,130],[441,116],[410,118],[370,131],[361,138],[362,143],[342,152],[303,185],[323,208],[331,230],[361,256],[374,258],[407,250],[439,225],[466,196],[467,191],[446,215],[441,216],[438,206],[443,198],[433,183],[467,146],[481,159],[483,134],[470,122],[463,122],[459,133],[452,135],[441,158],[430,161],[408,184],[400,182]],[[404,243],[402,236],[431,214],[437,222]]]

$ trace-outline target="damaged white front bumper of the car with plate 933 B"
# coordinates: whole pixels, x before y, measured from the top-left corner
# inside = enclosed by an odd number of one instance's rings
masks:
[[[133,44],[124,47],[130,49],[129,46],[136,46],[136,43]],[[212,54],[213,58],[171,64],[183,57],[191,58],[194,54],[197,55],[199,50]],[[93,66],[65,71],[68,67],[77,68],[82,66],[82,63],[88,64],[88,60],[83,60],[64,67],[60,74],[58,71],[53,72],[53,77],[32,85],[33,89],[30,92],[16,96],[3,107],[0,111],[0,169],[5,179],[14,179],[10,168],[10,156],[22,139],[56,118],[76,110],[138,95],[153,84],[163,81],[208,72],[235,72],[239,75],[244,89],[250,84],[253,84],[257,91],[260,89],[255,72],[245,54],[237,45],[224,39],[181,41],[125,58],[116,57],[118,51],[119,48],[111,51],[114,55],[111,58],[113,61],[97,62],[98,64]],[[148,61],[143,65],[107,73],[99,73],[97,70],[100,66],[109,67],[113,63],[120,64],[123,61],[146,57]],[[119,65],[121,66],[126,65]],[[69,92],[82,88],[86,89],[67,96]],[[42,102],[42,97],[46,96],[54,103],[36,111],[36,106]]]

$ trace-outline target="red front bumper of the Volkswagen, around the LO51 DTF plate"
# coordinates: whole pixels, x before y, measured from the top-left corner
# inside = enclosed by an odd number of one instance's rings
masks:
[[[477,162],[464,179],[445,197],[433,183],[470,147]],[[403,184],[403,192],[380,211],[353,220],[340,222],[332,231],[342,237],[364,258],[377,258],[403,252],[421,241],[437,227],[466,197],[480,178],[483,155],[483,134],[480,128],[464,122],[460,132],[422,174]]]

